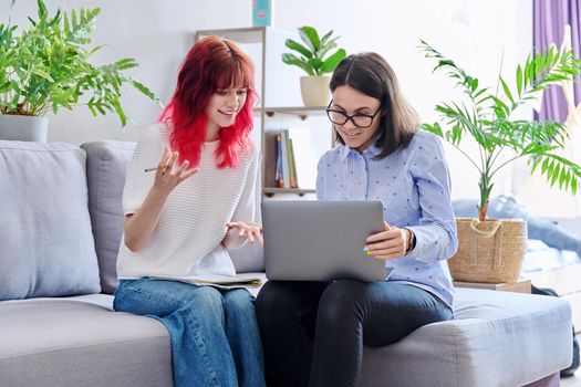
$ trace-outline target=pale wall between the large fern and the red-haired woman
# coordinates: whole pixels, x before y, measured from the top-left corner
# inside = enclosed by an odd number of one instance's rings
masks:
[[[194,42],[198,29],[248,27],[250,1],[204,0],[45,0],[49,10],[101,8],[94,43],[104,46],[94,56],[104,64],[121,57],[136,59],[139,67],[132,69],[137,80],[148,85],[164,102],[172,96],[177,69]],[[7,21],[9,1],[0,2],[0,18]],[[19,0],[12,11],[13,24],[24,25],[27,17],[35,19],[37,1]],[[247,18],[238,18],[248,14]],[[162,108],[133,90],[124,95],[122,105],[138,125],[122,128],[114,115],[94,118],[86,107],[50,115],[49,140],[81,144],[94,139],[137,139],[141,129],[153,123]]]

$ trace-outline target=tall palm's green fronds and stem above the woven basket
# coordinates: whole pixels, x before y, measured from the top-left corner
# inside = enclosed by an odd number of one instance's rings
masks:
[[[540,172],[552,187],[569,189],[573,195],[579,189],[581,167],[558,155],[564,148],[568,138],[563,124],[554,121],[513,119],[515,111],[532,100],[540,91],[551,84],[571,81],[581,73],[581,61],[564,49],[550,49],[531,54],[523,65],[516,70],[516,87],[498,76],[495,93],[483,87],[478,79],[468,75],[452,60],[442,55],[428,43],[421,40],[419,48],[426,57],[437,61],[435,71],[446,71],[447,77],[456,82],[466,98],[436,105],[442,121],[424,124],[425,130],[432,132],[455,146],[463,153],[480,175],[480,200],[478,218],[486,220],[488,199],[494,187],[495,175],[506,165],[521,157],[528,157],[531,172],[540,167]],[[506,96],[498,97],[499,88]],[[478,145],[478,155],[468,155],[460,148],[466,137],[471,137]],[[508,159],[501,157],[511,149]]]

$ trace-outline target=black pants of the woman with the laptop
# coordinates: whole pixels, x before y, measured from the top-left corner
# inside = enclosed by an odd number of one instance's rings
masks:
[[[397,282],[269,281],[257,299],[270,386],[354,386],[363,345],[384,346],[449,320],[438,297]]]

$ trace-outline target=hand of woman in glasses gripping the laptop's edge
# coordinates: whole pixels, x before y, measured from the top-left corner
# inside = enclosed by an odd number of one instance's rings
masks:
[[[404,257],[408,251],[407,241],[412,231],[390,227],[385,221],[383,224],[384,230],[370,236],[366,239],[367,245],[363,250],[367,255],[381,260]]]

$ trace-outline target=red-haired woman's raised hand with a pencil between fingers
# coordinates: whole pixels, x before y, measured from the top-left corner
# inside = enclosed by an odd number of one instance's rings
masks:
[[[188,160],[185,160],[180,166],[178,166],[178,157],[179,154],[177,151],[172,151],[168,146],[165,147],[164,155],[162,156],[162,160],[159,161],[157,171],[155,172],[153,189],[167,196],[181,181],[197,174],[199,170],[198,168],[188,169]]]

